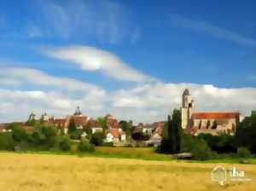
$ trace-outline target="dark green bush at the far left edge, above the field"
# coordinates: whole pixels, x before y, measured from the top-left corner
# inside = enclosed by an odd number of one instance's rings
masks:
[[[10,132],[0,133],[0,150],[14,151],[17,142]]]

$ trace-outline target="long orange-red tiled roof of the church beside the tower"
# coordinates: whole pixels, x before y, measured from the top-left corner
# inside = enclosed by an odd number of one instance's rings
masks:
[[[231,112],[209,112],[209,113],[193,113],[193,119],[236,119],[240,113]]]

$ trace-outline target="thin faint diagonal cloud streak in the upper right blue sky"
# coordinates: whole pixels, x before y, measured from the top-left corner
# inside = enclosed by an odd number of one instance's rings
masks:
[[[216,38],[230,40],[233,43],[243,46],[256,47],[255,39],[244,37],[241,34],[232,32],[219,26],[212,26],[207,22],[190,20],[178,15],[172,15],[172,24],[178,27],[188,28],[193,31],[204,32]]]

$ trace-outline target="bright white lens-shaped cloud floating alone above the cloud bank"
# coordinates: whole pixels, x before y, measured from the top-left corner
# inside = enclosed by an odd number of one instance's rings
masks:
[[[101,71],[109,77],[119,80],[145,82],[152,81],[142,72],[129,67],[118,56],[112,53],[89,46],[70,46],[47,50],[47,54],[57,59],[77,64],[86,71]]]

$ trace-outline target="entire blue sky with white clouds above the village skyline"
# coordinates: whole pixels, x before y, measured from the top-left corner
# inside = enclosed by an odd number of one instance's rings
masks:
[[[0,122],[256,109],[256,2],[0,0]]]

